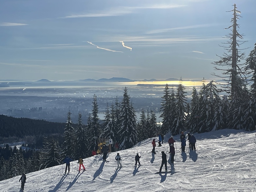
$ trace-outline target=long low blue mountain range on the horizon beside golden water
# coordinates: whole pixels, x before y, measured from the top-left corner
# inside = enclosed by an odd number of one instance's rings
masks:
[[[144,80],[134,80],[134,79],[127,79],[127,78],[122,78],[122,77],[112,77],[110,79],[102,78],[102,79],[83,79],[79,81],[84,81],[84,82],[134,82],[134,81],[179,81],[179,79],[175,78],[169,78],[169,79],[144,79]]]

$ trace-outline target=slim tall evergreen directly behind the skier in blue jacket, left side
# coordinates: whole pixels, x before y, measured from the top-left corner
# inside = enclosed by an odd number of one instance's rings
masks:
[[[69,156],[71,159],[75,158],[73,156],[74,151],[74,128],[72,127],[72,120],[71,120],[71,112],[68,112],[68,119],[66,121],[66,127],[64,129],[64,142],[62,144],[63,151],[62,155],[64,157]]]

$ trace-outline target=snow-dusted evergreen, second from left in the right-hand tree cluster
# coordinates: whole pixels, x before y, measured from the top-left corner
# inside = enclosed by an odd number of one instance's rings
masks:
[[[182,78],[180,79],[180,84],[177,88],[177,93],[175,95],[176,98],[176,114],[174,116],[174,122],[173,122],[173,127],[171,129],[171,133],[173,135],[178,135],[182,131],[187,130],[186,127],[186,122],[185,122],[185,112],[186,112],[186,107],[185,105],[187,104],[187,99],[186,95],[187,93],[185,91],[185,87],[182,85]]]

